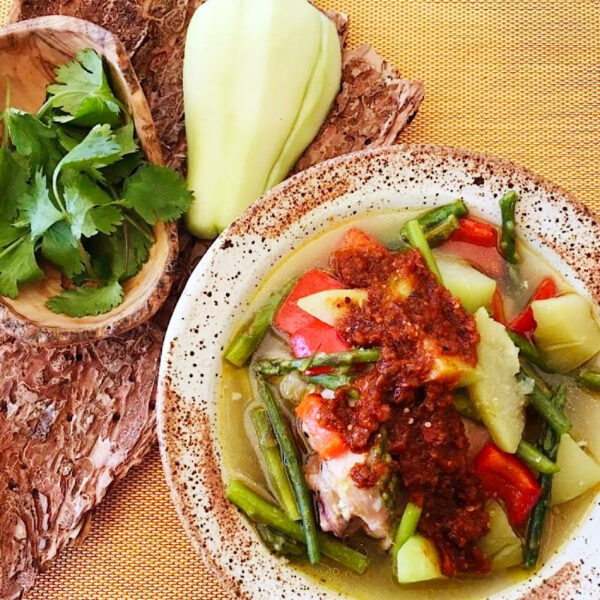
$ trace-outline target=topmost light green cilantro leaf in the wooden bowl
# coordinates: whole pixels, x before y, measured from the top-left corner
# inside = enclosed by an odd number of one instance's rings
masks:
[[[56,69],[56,83],[48,86],[48,93],[52,105],[68,113],[55,117],[59,122],[84,127],[119,123],[119,102],[108,84],[102,59],[91,48]]]

